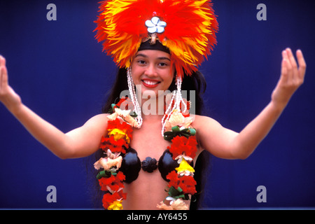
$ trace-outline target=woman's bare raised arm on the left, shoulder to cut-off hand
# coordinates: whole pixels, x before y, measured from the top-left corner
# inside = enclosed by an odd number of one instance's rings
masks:
[[[0,101],[27,131],[57,157],[80,158],[97,151],[107,127],[105,114],[94,116],[82,127],[64,134],[22,104],[21,98],[8,85],[6,59],[0,55]]]

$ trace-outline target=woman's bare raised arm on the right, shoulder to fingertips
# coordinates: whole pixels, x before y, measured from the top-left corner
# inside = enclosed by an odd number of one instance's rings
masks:
[[[302,52],[297,50],[298,65],[289,48],[283,50],[282,57],[281,77],[272,92],[271,102],[241,132],[225,129],[211,118],[196,118],[195,128],[202,147],[218,158],[226,159],[245,159],[253,153],[276,123],[290,97],[304,82],[306,63]]]

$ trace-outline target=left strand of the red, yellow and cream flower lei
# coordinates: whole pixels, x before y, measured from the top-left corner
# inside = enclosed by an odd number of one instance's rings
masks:
[[[94,163],[94,168],[99,170],[97,174],[99,186],[105,192],[103,207],[108,210],[123,209],[122,202],[127,198],[127,193],[123,193],[125,175],[119,168],[132,140],[132,127],[137,127],[137,122],[130,116],[130,110],[120,110],[119,106],[125,100],[121,99],[118,104],[112,105],[115,112],[107,117],[108,134],[102,137],[99,146],[104,152],[104,158]]]

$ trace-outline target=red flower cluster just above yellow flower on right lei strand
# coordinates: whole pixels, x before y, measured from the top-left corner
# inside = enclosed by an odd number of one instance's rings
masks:
[[[195,136],[179,137],[172,139],[171,147],[167,147],[169,152],[173,155],[173,160],[179,155],[187,155],[190,158],[195,158],[197,153],[197,140]]]

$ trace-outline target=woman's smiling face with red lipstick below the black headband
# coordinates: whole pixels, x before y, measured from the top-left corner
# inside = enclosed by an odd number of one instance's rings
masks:
[[[132,61],[134,85],[141,85],[141,93],[153,90],[168,90],[174,78],[171,55],[160,50],[141,50]]]

